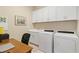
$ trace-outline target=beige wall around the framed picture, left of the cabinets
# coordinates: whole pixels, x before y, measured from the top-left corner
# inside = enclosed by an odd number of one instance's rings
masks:
[[[11,7],[1,7],[0,6],[0,16],[5,16],[8,18],[9,24],[9,34],[11,38],[21,39],[22,34],[27,32],[28,29],[32,28],[31,23],[31,7],[25,6],[11,6]],[[15,25],[15,15],[26,17],[26,26],[16,26]]]

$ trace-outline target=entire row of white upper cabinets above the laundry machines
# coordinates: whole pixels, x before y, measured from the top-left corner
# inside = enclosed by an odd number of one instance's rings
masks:
[[[50,6],[33,11],[33,22],[77,20],[76,6]]]

